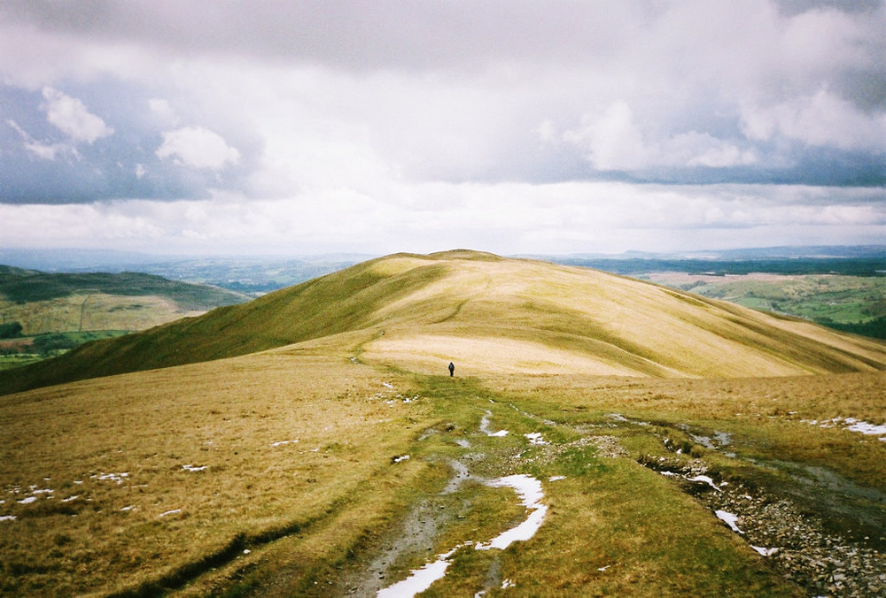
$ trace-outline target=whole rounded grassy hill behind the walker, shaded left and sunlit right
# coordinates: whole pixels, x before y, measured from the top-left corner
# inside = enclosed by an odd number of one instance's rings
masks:
[[[317,343],[403,370],[677,377],[886,369],[886,345],[605,272],[394,254],[5,372],[0,392]]]

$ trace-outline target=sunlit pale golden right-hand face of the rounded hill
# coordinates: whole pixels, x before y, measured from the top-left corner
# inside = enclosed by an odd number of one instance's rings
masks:
[[[367,345],[367,360],[426,373],[453,359],[463,372],[658,377],[886,364],[877,341],[603,272],[522,260],[445,264],[445,276],[374,312],[385,336]]]

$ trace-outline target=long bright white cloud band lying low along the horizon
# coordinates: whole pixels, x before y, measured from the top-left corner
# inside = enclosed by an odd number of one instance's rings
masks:
[[[166,252],[616,252],[877,242],[878,198],[878,189],[766,185],[388,183],[277,200],[0,204],[0,221],[10,247],[35,246],[40,230],[42,246]]]

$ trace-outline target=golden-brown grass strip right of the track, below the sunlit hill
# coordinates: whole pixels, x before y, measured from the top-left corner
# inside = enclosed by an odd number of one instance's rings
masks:
[[[884,373],[710,380],[492,375],[480,380],[517,402],[529,402],[547,418],[570,421],[576,413],[617,412],[651,422],[690,423],[736,434],[738,448],[743,442],[749,456],[825,466],[886,491],[886,442],[808,423],[838,417],[886,422]]]

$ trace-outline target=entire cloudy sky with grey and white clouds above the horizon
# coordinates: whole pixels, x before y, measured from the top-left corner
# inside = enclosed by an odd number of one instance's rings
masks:
[[[0,247],[886,242],[881,0],[0,3]]]

